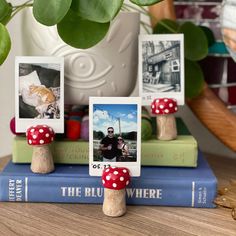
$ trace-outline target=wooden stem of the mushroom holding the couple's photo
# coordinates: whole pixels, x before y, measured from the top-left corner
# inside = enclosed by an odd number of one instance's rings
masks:
[[[103,213],[107,216],[118,217],[126,213],[126,191],[104,188]]]

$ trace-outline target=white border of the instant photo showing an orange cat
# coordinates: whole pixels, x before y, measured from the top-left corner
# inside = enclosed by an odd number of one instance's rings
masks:
[[[59,119],[34,119],[20,118],[19,114],[19,66],[20,63],[41,63],[60,65],[60,118]],[[15,58],[15,119],[16,132],[23,133],[33,125],[48,125],[55,133],[64,133],[64,58],[45,56],[17,56]]]

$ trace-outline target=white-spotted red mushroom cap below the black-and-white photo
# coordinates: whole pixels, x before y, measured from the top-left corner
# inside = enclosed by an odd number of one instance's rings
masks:
[[[168,115],[178,111],[177,101],[173,98],[154,99],[151,104],[152,114]]]

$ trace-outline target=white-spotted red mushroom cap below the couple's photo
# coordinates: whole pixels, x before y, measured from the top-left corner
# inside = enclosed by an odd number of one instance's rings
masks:
[[[105,188],[121,190],[130,183],[129,169],[125,167],[108,167],[102,174],[102,183]]]

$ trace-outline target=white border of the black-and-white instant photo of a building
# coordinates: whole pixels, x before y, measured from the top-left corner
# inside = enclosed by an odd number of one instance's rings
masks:
[[[180,41],[180,82],[181,92],[143,92],[143,57],[142,43],[144,41]],[[155,98],[175,98],[178,105],[185,104],[185,79],[184,79],[184,35],[183,34],[152,34],[139,35],[139,96],[142,97],[142,105],[150,106]]]

